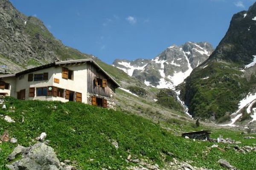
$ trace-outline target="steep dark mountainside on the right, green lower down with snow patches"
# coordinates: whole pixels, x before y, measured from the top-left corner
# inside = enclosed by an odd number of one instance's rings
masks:
[[[216,50],[185,79],[181,96],[192,116],[232,126],[254,122],[255,45],[256,3],[232,17]]]

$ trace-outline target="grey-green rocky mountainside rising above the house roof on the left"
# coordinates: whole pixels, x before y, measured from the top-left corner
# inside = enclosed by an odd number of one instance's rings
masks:
[[[21,14],[9,0],[0,0],[0,30],[0,72],[92,57],[63,45],[41,20]]]

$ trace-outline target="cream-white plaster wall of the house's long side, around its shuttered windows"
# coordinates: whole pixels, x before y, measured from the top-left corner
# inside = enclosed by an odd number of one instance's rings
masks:
[[[26,89],[25,99],[39,99],[39,100],[48,100],[48,101],[61,101],[68,102],[67,99],[62,97],[54,97],[54,96],[35,96],[29,97],[29,88],[30,87],[47,87],[47,86],[55,86],[58,88],[68,89],[70,91],[75,91],[82,93],[82,102],[87,103],[87,64],[81,65],[73,65],[73,66],[65,66],[66,68],[73,70],[73,80],[71,79],[63,79],[62,78],[62,67],[51,67],[45,68],[39,71],[35,71],[29,74],[42,74],[48,73],[48,80],[42,81],[28,81],[28,74],[24,75],[23,79],[16,78],[16,90],[15,96],[17,98],[17,92]],[[54,78],[59,79],[59,83],[55,83]],[[36,94],[36,92],[35,92]],[[65,92],[64,92],[65,94]]]

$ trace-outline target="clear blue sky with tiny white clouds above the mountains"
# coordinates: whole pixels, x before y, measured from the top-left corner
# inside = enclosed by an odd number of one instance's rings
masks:
[[[11,0],[65,45],[111,64],[153,58],[172,44],[218,45],[233,14],[254,0]]]

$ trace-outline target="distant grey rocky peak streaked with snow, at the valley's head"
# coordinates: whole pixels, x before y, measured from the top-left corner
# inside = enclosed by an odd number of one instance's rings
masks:
[[[189,76],[191,71],[208,59],[213,48],[207,42],[186,42],[172,45],[154,59],[134,61],[116,59],[113,65],[128,75],[157,88],[174,88]]]

